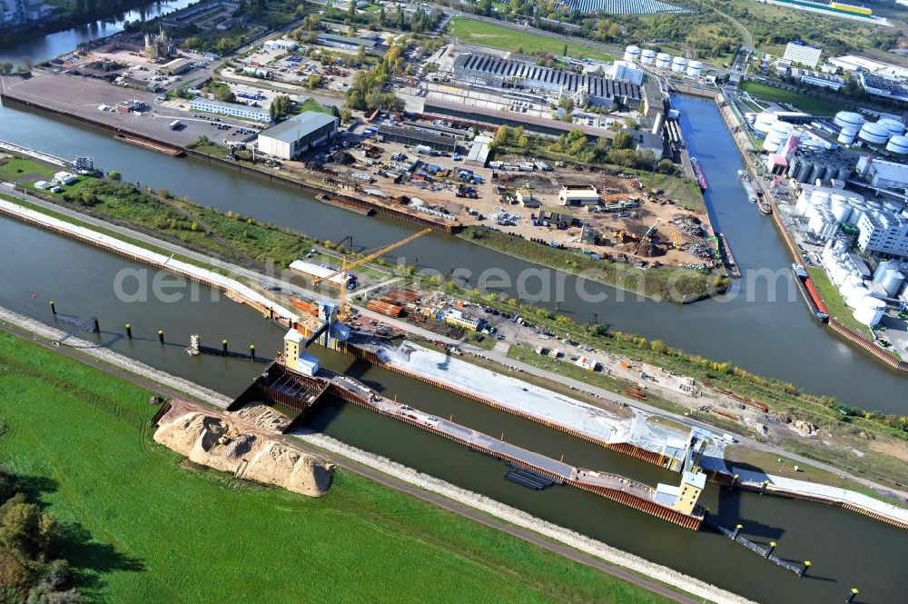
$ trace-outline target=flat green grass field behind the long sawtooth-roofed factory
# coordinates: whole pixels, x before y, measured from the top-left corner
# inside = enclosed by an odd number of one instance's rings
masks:
[[[551,53],[560,56],[564,52],[565,43],[545,35],[520,32],[499,25],[490,25],[472,19],[455,18],[451,22],[451,35],[462,42],[491,46],[512,52],[523,53]],[[599,61],[614,61],[615,57],[605,54],[596,48],[573,43],[568,44],[568,54],[580,58],[598,59]]]

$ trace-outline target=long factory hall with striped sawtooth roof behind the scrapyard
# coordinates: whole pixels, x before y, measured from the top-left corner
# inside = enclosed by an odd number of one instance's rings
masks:
[[[578,106],[618,103],[627,109],[636,109],[643,100],[637,84],[598,75],[574,74],[490,54],[460,54],[454,60],[453,71],[459,82],[466,84],[530,89],[559,98],[575,96]]]

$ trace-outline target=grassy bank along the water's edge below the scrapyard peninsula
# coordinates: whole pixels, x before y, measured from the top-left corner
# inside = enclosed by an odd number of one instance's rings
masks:
[[[590,281],[606,283],[655,300],[694,302],[723,292],[728,286],[727,278],[713,274],[670,266],[638,269],[627,263],[595,260],[578,252],[559,250],[483,227],[469,227],[459,236],[528,262],[572,272]]]

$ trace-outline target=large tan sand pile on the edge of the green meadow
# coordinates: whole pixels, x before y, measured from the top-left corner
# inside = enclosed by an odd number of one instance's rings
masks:
[[[154,440],[195,463],[235,472],[248,461],[242,478],[276,484],[319,497],[331,487],[334,465],[265,434],[242,432],[242,426],[215,413],[168,413]],[[226,436],[226,442],[220,442]]]

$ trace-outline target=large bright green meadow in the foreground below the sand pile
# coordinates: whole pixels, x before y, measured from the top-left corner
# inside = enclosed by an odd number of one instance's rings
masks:
[[[231,489],[151,440],[151,394],[0,333],[0,460],[82,538],[93,601],[667,601],[345,470]]]

